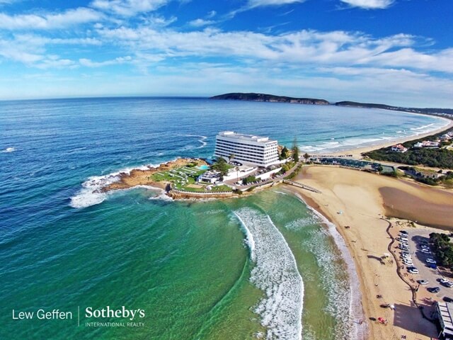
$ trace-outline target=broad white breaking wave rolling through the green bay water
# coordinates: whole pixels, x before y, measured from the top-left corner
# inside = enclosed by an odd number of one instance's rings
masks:
[[[253,239],[250,280],[265,293],[254,312],[267,328],[266,339],[302,339],[304,284],[291,249],[268,215],[250,208],[234,214]]]

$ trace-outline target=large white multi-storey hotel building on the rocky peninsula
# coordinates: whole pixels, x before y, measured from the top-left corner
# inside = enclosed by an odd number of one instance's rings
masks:
[[[214,156],[223,157],[229,161],[231,154],[234,154],[234,161],[246,165],[280,164],[276,140],[233,131],[219,132],[216,137]]]

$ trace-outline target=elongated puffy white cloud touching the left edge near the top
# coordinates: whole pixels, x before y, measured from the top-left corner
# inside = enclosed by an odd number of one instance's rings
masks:
[[[81,23],[89,23],[101,19],[101,13],[90,8],[69,9],[62,13],[19,14],[9,16],[0,13],[0,28],[6,30],[47,30],[67,28]]]

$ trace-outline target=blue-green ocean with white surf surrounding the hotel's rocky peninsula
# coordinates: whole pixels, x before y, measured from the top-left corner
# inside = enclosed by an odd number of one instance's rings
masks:
[[[363,339],[343,240],[284,188],[197,202],[93,191],[120,171],[210,157],[221,130],[328,153],[445,125],[206,98],[3,101],[0,113],[0,339]],[[107,306],[145,315],[86,315]]]

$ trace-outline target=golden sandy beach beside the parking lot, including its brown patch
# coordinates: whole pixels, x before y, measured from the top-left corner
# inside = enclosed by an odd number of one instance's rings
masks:
[[[437,336],[434,324],[423,319],[420,310],[413,305],[410,288],[396,273],[396,261],[392,257],[382,260],[384,254],[389,254],[391,242],[386,214],[393,205],[391,215],[395,217],[410,215],[419,222],[453,230],[453,193],[333,166],[306,166],[295,180],[321,191],[313,193],[286,186],[328,217],[350,249],[360,278],[369,339],[401,339],[401,336],[430,339],[430,336]],[[420,209],[420,205],[425,208]],[[442,213],[432,213],[436,208]],[[394,236],[402,227],[409,227],[407,220],[392,218],[390,221],[393,227],[389,232]],[[378,299],[377,295],[382,298]],[[420,293],[419,297],[424,296]],[[382,303],[395,305],[396,309],[384,309],[380,307]],[[388,324],[369,319],[378,317],[387,319]]]

